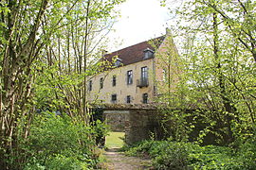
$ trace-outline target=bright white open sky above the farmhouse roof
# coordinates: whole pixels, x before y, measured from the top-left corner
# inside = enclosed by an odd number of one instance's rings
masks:
[[[110,52],[165,34],[170,14],[160,0],[126,0],[119,6],[121,17],[109,34]]]

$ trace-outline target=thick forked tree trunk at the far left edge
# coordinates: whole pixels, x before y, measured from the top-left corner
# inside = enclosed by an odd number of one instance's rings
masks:
[[[29,107],[27,101],[30,97],[31,61],[35,58],[35,35],[39,29],[41,18],[45,12],[47,0],[43,0],[39,9],[34,25],[30,29],[27,42],[17,44],[17,39],[23,37],[17,32],[17,15],[22,4],[16,1],[9,1],[10,12],[2,20],[8,24],[5,30],[5,38],[8,43],[5,46],[5,54],[1,72],[1,120],[0,120],[0,167],[3,169],[18,169],[19,162],[14,159],[14,154],[18,149],[18,120],[27,117]],[[18,46],[18,47],[17,47]],[[37,54],[38,55],[38,54]],[[28,118],[29,120],[30,118]],[[24,132],[26,132],[25,130]]]

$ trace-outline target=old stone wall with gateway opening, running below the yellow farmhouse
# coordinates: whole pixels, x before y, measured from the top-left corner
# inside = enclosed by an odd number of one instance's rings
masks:
[[[165,135],[172,135],[174,131],[172,122],[166,122],[168,125],[165,127],[166,131],[164,131],[160,124],[160,114],[152,105],[112,105],[105,107],[103,110],[105,121],[111,129],[113,131],[125,132],[126,144],[134,144],[142,140],[150,139],[151,137],[154,137],[156,140],[161,140],[166,137]],[[194,110],[186,111],[192,112]],[[192,117],[190,119],[192,119]],[[189,134],[189,140],[195,141],[198,138],[200,130],[203,130],[207,125],[204,124],[198,116],[196,122],[190,119],[187,121],[193,121],[195,127]],[[221,128],[223,127],[216,127],[216,129],[213,130],[217,131]],[[217,139],[217,136],[209,133],[204,137],[203,144],[217,144],[215,142]]]

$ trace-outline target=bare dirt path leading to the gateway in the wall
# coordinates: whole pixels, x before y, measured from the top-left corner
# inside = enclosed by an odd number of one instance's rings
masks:
[[[118,148],[109,149],[104,155],[107,159],[107,170],[152,169],[150,160],[125,156],[123,153],[118,152]]]

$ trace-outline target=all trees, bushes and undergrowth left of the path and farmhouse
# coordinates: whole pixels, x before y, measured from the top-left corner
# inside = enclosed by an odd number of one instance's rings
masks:
[[[107,65],[100,61],[104,35],[121,2],[0,2],[2,169],[94,166],[92,142],[98,133],[90,133],[95,124],[90,123],[86,82]],[[38,115],[47,111],[61,117]]]

